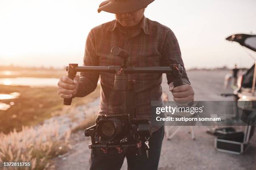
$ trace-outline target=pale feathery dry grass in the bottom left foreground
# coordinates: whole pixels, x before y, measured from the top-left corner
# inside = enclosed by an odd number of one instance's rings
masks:
[[[67,152],[71,130],[59,135],[59,123],[38,127],[22,127],[20,132],[5,135],[0,133],[0,162],[30,162],[31,166],[15,167],[14,170],[43,170],[49,166],[49,160]],[[9,169],[9,168],[8,168]]]

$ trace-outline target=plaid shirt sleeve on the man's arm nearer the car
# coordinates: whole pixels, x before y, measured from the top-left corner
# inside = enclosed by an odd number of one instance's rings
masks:
[[[171,29],[166,32],[166,37],[164,40],[163,50],[161,53],[161,66],[169,66],[170,64],[180,64],[183,67],[182,80],[184,84],[189,84],[189,78],[187,77],[186,70],[184,68],[184,63],[181,56],[181,51],[179,48],[179,43],[172,32]],[[168,84],[173,82],[173,77],[171,73],[166,73],[166,78]]]

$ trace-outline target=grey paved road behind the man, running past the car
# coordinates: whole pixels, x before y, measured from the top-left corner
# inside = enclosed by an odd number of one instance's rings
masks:
[[[218,71],[189,71],[188,75],[195,90],[195,100],[232,100],[220,97],[226,72]],[[163,91],[172,99],[168,92],[165,76]],[[175,127],[176,128],[176,127]],[[214,149],[214,137],[207,135],[208,127],[195,126],[196,140],[192,140],[187,133],[189,129],[183,127],[172,140],[164,140],[159,170],[255,170],[256,169],[256,135],[251,139],[251,146],[243,155],[220,153]],[[83,138],[83,132],[75,134],[77,142],[73,149],[62,158],[55,161],[57,170],[87,170],[90,150],[87,145],[90,140]],[[127,169],[126,161],[122,170]]]

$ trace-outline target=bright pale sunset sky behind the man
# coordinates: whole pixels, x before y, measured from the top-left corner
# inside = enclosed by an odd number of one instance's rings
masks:
[[[93,27],[114,19],[100,0],[0,0],[0,65],[63,67],[82,63]],[[256,0],[155,0],[145,15],[171,28],[185,67],[250,67],[256,52],[228,42],[256,34]]]

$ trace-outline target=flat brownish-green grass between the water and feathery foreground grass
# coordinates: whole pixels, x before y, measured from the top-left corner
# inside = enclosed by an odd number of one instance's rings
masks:
[[[14,128],[21,130],[23,125],[32,126],[58,114],[63,114],[64,107],[76,107],[95,100],[100,95],[98,86],[94,92],[83,98],[74,98],[72,106],[64,106],[56,87],[28,87],[0,85],[0,93],[9,94],[19,92],[16,99],[1,100],[1,102],[15,104],[8,110],[0,110],[0,132],[9,133]],[[15,115],[15,116],[14,116]]]

